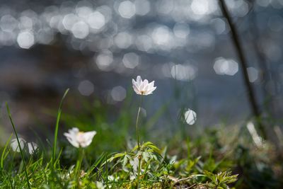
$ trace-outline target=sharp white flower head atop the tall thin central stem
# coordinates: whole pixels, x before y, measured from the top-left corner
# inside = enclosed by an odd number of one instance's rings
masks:
[[[142,81],[141,76],[137,76],[137,81],[132,79],[132,84],[134,91],[139,95],[149,95],[156,89],[156,86],[154,86],[154,81],[151,81],[151,83],[149,83],[147,79]]]

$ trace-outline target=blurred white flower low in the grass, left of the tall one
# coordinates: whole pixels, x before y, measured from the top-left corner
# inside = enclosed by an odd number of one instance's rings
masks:
[[[76,127],[64,133],[64,136],[67,137],[71,145],[76,148],[88,147],[88,145],[93,141],[94,135],[96,135],[96,131],[80,132]]]

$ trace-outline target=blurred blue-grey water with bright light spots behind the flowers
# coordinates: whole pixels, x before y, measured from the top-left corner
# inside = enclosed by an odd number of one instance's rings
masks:
[[[226,5],[261,116],[272,120],[270,127],[280,126],[283,1]],[[216,0],[1,1],[1,133],[11,132],[6,101],[18,132],[29,135],[27,128],[40,130],[38,125],[52,132],[66,88],[66,103],[75,110],[77,99],[99,101],[113,122],[130,98],[134,120],[137,75],[157,86],[144,99],[144,115],[151,118],[166,105],[154,130],[166,132],[178,121],[189,128],[241,125],[253,112],[240,64]],[[183,113],[197,119],[184,120]],[[164,127],[167,120],[175,121]]]

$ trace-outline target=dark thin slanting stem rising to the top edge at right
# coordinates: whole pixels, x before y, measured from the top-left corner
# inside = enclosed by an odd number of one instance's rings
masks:
[[[236,53],[238,55],[238,58],[240,59],[240,65],[241,65],[241,69],[242,69],[242,72],[243,72],[243,80],[246,84],[246,88],[247,88],[247,91],[248,91],[248,99],[249,99],[249,102],[250,102],[250,108],[253,111],[253,115],[255,115],[255,120],[258,123],[258,129],[260,130],[260,134],[262,135],[262,137],[264,139],[266,139],[267,136],[266,136],[266,133],[265,133],[265,127],[262,125],[262,122],[260,121],[260,110],[258,109],[258,105],[257,105],[256,100],[255,100],[255,93],[254,93],[253,87],[251,86],[250,81],[248,79],[248,71],[247,71],[247,65],[248,64],[247,64],[247,61],[246,61],[246,57],[243,53],[243,48],[241,46],[241,42],[240,42],[238,32],[236,30],[235,25],[233,25],[230,13],[228,11],[228,8],[227,8],[224,0],[219,0],[219,4],[220,4],[222,13],[223,13],[224,17],[227,19],[229,26],[231,28],[231,38],[232,38],[233,44],[236,48]]]

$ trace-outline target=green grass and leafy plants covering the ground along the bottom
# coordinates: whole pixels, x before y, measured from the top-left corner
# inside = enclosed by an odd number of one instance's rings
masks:
[[[0,188],[282,188],[282,161],[275,147],[270,142],[256,147],[245,125],[199,130],[178,122],[170,134],[155,137],[153,125],[170,101],[140,118],[139,147],[139,105],[132,93],[113,118],[109,115],[118,110],[111,105],[66,98],[67,92],[57,114],[52,113],[57,118],[53,144],[40,145],[33,154],[26,147],[17,153],[10,147],[11,134],[1,147]],[[147,105],[144,98],[143,108]],[[8,116],[19,143],[9,110]],[[68,127],[97,134],[90,146],[76,149],[59,132]]]

